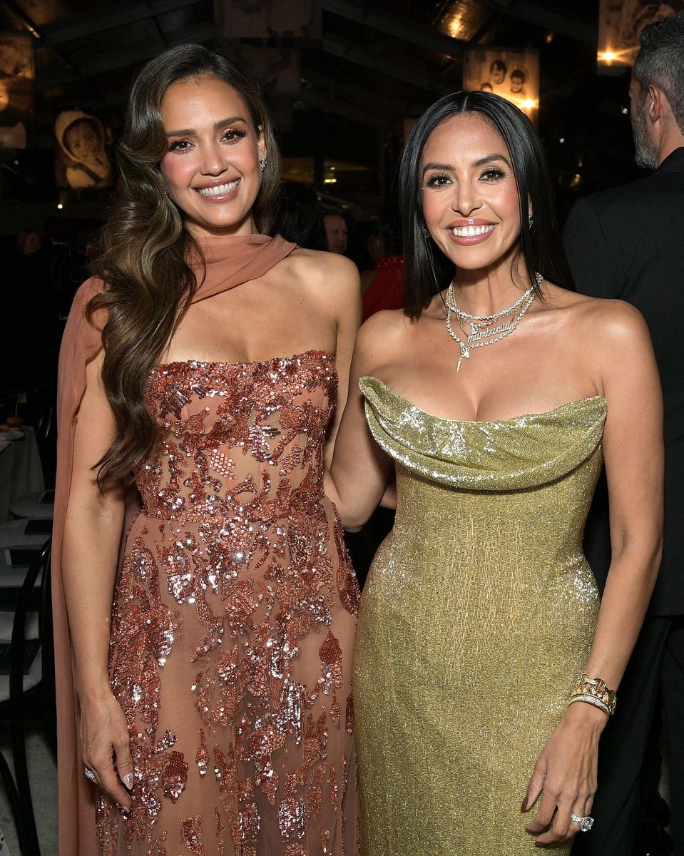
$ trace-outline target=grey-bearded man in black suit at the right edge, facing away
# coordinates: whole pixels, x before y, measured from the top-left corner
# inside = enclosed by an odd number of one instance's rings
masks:
[[[663,562],[649,613],[599,747],[594,828],[573,853],[631,856],[642,763],[662,693],[669,734],[671,828],[684,854],[684,12],[645,27],[630,84],[639,166],[652,175],[581,199],[564,230],[578,291],[628,300],[651,330],[665,403]],[[639,407],[639,401],[633,402]],[[605,490],[585,549],[599,586],[610,564]]]

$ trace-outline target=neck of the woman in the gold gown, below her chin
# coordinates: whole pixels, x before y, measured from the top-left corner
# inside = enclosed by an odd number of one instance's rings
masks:
[[[512,306],[532,285],[520,257],[511,264],[496,265],[480,270],[459,269],[454,279],[454,296],[459,309],[471,315],[493,315]]]

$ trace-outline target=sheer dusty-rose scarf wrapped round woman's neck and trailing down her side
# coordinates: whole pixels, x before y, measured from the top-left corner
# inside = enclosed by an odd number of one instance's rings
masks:
[[[202,265],[193,265],[201,282],[193,303],[221,294],[243,282],[263,276],[279,261],[292,253],[295,245],[279,235],[246,235],[206,238],[198,241],[205,257],[206,275],[202,282]],[[57,486],[52,537],[52,601],[55,624],[55,668],[57,679],[57,758],[61,856],[98,856],[95,835],[96,789],[83,775],[78,734],[78,703],[74,690],[73,659],[68,618],[62,586],[62,534],[71,488],[74,434],[80,401],[86,389],[86,366],[102,349],[101,330],[106,322],[105,310],[98,310],[88,321],[88,301],[104,288],[104,283],[91,278],[84,282],[74,297],[59,357],[59,391],[57,395]],[[134,491],[132,491],[134,494]],[[133,495],[127,502],[128,521],[138,508]]]

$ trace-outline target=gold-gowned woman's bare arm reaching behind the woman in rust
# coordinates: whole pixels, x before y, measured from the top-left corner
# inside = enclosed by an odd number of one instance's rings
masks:
[[[384,315],[386,313],[380,313]],[[326,473],[325,492],[335,502],[346,529],[359,529],[368,520],[393,475],[393,465],[373,440],[366,422],[359,379],[373,374],[384,358],[382,318],[373,316],[359,331],[354,348],[349,392],[337,437],[335,457]]]

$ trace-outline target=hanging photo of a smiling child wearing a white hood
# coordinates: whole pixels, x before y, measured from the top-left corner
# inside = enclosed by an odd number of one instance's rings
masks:
[[[65,110],[55,122],[57,187],[111,187],[111,162],[104,126],[96,116]]]

